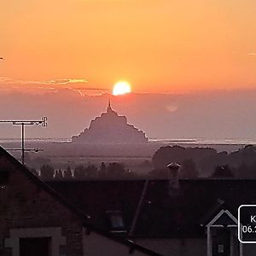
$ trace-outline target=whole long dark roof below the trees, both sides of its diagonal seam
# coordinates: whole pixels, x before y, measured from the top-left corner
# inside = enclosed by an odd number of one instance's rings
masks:
[[[151,180],[144,195],[143,180],[61,181],[49,185],[88,212],[92,223],[104,230],[109,230],[104,221],[106,211],[123,212],[128,234],[137,215],[130,236],[139,237],[205,236],[203,225],[221,209],[237,218],[240,205],[256,201],[256,180],[183,179],[178,192],[170,189],[168,180]]]

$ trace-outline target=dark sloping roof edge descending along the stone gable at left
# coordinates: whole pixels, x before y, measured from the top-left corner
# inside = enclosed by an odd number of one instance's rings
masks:
[[[146,253],[148,255],[152,256],[162,256],[160,253],[155,253],[154,251],[140,246],[137,243],[130,241],[128,239],[123,239],[121,237],[113,236],[113,234],[106,232],[106,230],[102,230],[101,228],[98,228],[94,226],[93,224],[90,224],[88,222],[88,219],[90,218],[87,214],[85,214],[81,208],[76,207],[75,204],[73,204],[71,201],[67,201],[66,198],[64,198],[61,194],[55,191],[55,189],[52,189],[47,183],[44,183],[44,181],[40,180],[37,176],[35,176],[32,172],[30,172],[26,166],[22,165],[20,161],[16,160],[15,157],[13,157],[11,154],[9,154],[6,150],[4,150],[2,147],[0,147],[0,158],[4,157],[7,160],[9,160],[17,169],[20,170],[20,172],[23,172],[26,177],[32,180],[32,182],[36,183],[41,189],[44,189],[49,195],[53,196],[56,201],[61,202],[61,204],[67,208],[69,208],[73,213],[77,214],[79,218],[82,218],[84,220],[84,227],[86,227],[89,230],[92,230],[99,235],[107,236],[113,241],[117,241],[119,243],[124,244],[127,247],[130,247],[130,251],[140,251],[142,253]]]

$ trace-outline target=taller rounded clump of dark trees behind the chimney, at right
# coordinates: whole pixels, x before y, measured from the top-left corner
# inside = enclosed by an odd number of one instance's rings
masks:
[[[180,177],[256,178],[256,147],[247,145],[235,152],[217,152],[213,148],[161,147],[152,158],[154,177],[166,176],[166,165],[181,165]]]

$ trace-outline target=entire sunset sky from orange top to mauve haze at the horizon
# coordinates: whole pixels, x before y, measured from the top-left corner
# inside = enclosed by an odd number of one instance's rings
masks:
[[[71,137],[113,108],[148,137],[256,139],[255,0],[1,0],[0,119]],[[1,126],[0,137],[20,137]]]

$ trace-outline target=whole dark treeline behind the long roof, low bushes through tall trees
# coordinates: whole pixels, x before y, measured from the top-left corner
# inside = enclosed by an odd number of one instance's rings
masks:
[[[152,157],[150,172],[139,174],[131,172],[123,163],[104,163],[101,166],[79,165],[71,169],[56,169],[49,164],[39,171],[31,171],[43,180],[83,180],[83,179],[140,179],[168,178],[167,165],[177,162],[181,165],[180,178],[195,177],[234,177],[256,178],[256,147],[248,145],[235,152],[217,152],[213,148],[183,148],[167,146],[159,148]],[[148,165],[148,162],[144,163]]]

